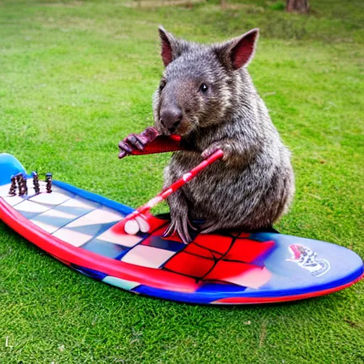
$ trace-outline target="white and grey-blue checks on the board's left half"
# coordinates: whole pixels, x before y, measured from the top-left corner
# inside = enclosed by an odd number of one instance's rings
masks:
[[[82,246],[100,255],[117,258],[142,238],[132,235],[116,236],[109,231],[109,228],[124,218],[122,213],[54,185],[52,193],[45,193],[43,181],[40,181],[40,194],[35,193],[31,178],[27,184],[28,194],[25,196],[9,196],[10,183],[1,186],[0,196],[39,228],[70,245]]]

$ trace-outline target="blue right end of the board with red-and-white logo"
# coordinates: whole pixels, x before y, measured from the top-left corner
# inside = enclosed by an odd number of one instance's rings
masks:
[[[306,294],[342,286],[364,272],[362,259],[340,245],[269,232],[252,234],[250,238],[273,240],[277,249],[264,259],[264,265],[272,272],[272,278],[259,287],[259,291],[246,289],[244,296],[280,296],[281,292],[284,295]],[[311,254],[313,259],[307,264],[300,262],[299,258],[294,259],[290,247],[304,247],[301,255]],[[317,275],[317,272],[321,275]]]

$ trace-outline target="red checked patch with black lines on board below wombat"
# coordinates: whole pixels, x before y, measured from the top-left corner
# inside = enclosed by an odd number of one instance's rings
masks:
[[[190,277],[198,286],[214,282],[256,289],[271,277],[263,262],[274,247],[273,241],[251,240],[245,232],[219,232],[219,235],[200,234],[190,244],[183,245],[176,235],[162,238],[163,229],[154,231],[141,245],[161,249],[174,246],[176,254],[160,268]]]

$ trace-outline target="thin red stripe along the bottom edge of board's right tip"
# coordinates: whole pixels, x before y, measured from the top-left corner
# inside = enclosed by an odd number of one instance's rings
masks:
[[[311,299],[317,296],[324,296],[326,294],[331,294],[333,292],[341,291],[341,289],[350,287],[351,285],[360,281],[364,278],[364,273],[354,279],[352,282],[343,284],[339,287],[323,289],[322,291],[316,291],[311,293],[296,294],[293,296],[280,296],[280,297],[229,297],[226,299],[218,299],[211,302],[211,304],[274,304],[277,302],[287,302],[287,301],[297,301],[299,299]]]

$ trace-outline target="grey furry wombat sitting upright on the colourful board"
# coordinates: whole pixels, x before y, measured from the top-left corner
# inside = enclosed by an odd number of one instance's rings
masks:
[[[213,45],[183,41],[163,27],[159,35],[166,68],[154,94],[154,126],[180,135],[184,148],[166,167],[165,187],[218,149],[224,154],[168,198],[171,224],[164,236],[178,232],[191,242],[193,220],[205,221],[201,233],[270,227],[289,208],[294,173],[246,69],[259,29]],[[142,149],[129,140],[122,149]]]

